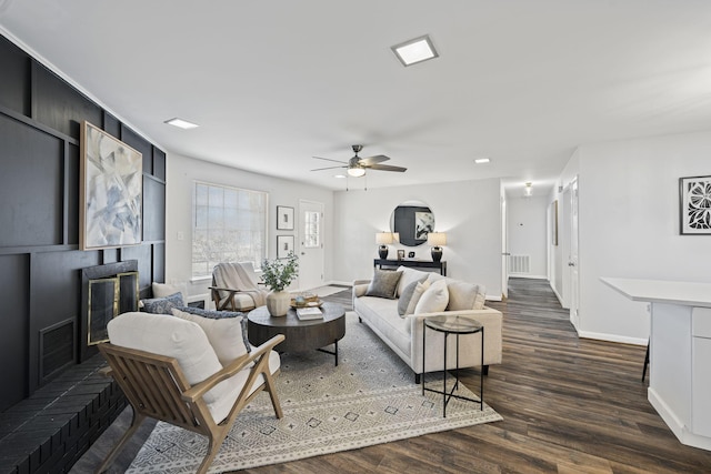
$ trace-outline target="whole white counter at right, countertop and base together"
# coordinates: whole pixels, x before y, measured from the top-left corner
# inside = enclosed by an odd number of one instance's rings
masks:
[[[648,400],[681,443],[711,451],[711,283],[600,280],[651,303]]]

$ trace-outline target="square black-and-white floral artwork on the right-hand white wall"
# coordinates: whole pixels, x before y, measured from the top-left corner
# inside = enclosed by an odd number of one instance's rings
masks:
[[[711,177],[679,179],[679,233],[711,234]]]

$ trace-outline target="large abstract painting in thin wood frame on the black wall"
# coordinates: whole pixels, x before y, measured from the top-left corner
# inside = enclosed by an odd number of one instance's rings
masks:
[[[79,248],[140,244],[142,154],[87,121],[80,145]]]

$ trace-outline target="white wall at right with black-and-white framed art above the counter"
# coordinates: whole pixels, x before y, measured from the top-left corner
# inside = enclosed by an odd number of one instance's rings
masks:
[[[711,132],[581,147],[580,335],[647,343],[644,303],[601,276],[711,282],[711,236],[679,234],[679,178],[711,174]]]

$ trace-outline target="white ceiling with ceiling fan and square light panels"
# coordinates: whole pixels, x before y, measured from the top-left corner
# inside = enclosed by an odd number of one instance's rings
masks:
[[[408,168],[368,188],[520,195],[579,144],[711,125],[708,0],[0,0],[0,30],[169,152],[336,190],[311,157],[356,143]],[[403,68],[424,33],[440,58]]]

